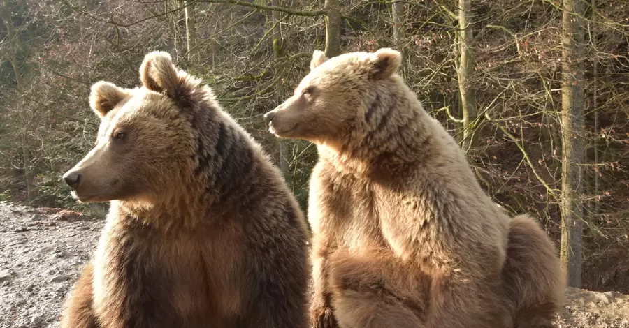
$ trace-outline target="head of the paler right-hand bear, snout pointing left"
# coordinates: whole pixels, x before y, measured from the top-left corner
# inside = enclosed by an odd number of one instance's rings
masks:
[[[294,95],[264,117],[278,137],[342,146],[360,140],[371,128],[372,109],[401,64],[400,52],[383,48],[327,59],[315,50],[310,73]]]

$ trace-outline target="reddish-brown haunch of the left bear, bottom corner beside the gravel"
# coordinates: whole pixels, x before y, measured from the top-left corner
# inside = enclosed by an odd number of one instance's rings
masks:
[[[100,328],[94,314],[92,277],[94,265],[89,262],[74,285],[72,295],[64,306],[61,328]]]

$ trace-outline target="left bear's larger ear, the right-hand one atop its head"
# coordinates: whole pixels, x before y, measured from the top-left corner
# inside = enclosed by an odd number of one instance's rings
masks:
[[[177,94],[177,68],[168,52],[154,51],[144,57],[140,66],[140,80],[146,89],[164,92],[171,98]]]

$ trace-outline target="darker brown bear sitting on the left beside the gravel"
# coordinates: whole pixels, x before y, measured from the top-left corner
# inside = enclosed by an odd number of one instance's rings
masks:
[[[307,327],[309,233],[280,171],[166,52],[140,80],[92,86],[96,146],[64,179],[110,212],[61,327]]]

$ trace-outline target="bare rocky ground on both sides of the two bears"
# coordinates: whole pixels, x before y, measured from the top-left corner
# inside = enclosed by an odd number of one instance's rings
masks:
[[[0,202],[0,328],[58,327],[103,221]],[[629,297],[569,288],[558,327],[629,328]]]

